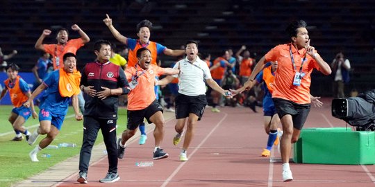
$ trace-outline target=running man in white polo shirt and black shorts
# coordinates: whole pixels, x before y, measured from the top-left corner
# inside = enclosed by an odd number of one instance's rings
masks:
[[[185,44],[186,57],[183,60],[176,62],[174,69],[181,69],[181,74],[178,75],[178,95],[176,96],[176,125],[174,129],[177,134],[173,139],[173,144],[177,145],[181,141],[183,128],[188,118],[188,125],[183,142],[183,148],[180,154],[180,161],[187,161],[186,150],[188,150],[192,136],[194,134],[194,127],[197,121],[201,120],[204,109],[207,105],[206,100],[206,83],[215,91],[218,91],[224,96],[230,96],[228,90],[222,89],[219,84],[211,78],[210,69],[206,62],[199,59],[198,43],[190,40]],[[158,81],[158,85],[165,85],[171,82],[177,75],[170,75]]]

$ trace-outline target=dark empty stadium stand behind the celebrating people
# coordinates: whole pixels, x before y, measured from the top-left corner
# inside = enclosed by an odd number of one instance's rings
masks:
[[[135,26],[142,19],[153,22],[151,40],[168,48],[180,48],[188,39],[201,42],[201,52],[215,57],[224,48],[237,51],[243,44],[259,59],[276,44],[288,42],[285,27],[295,19],[308,23],[311,45],[331,63],[335,53],[344,51],[353,66],[347,89],[374,89],[375,70],[375,1],[365,0],[163,0],[163,1],[87,1],[87,0],[2,0],[0,2],[0,46],[8,53],[19,54],[9,60],[23,71],[31,71],[40,52],[34,44],[42,30],[69,28],[69,37],[78,33],[70,29],[78,24],[91,42],[81,48],[79,67],[94,59],[93,43],[97,39],[119,42],[103,24],[106,13],[115,28],[127,37],[136,38]],[[56,42],[56,32],[44,43]],[[172,57],[161,56],[165,62]],[[325,96],[331,78],[317,73],[312,94]]]

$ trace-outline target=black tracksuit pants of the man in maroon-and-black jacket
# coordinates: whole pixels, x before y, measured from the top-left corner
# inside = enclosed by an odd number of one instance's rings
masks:
[[[83,141],[79,155],[79,170],[81,172],[88,172],[92,147],[97,140],[100,129],[108,152],[108,172],[117,173],[116,123],[116,119],[102,119],[92,116],[83,118]]]

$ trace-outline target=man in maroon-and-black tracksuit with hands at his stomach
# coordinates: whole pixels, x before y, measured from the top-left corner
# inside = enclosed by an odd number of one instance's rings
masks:
[[[86,103],[77,181],[88,183],[91,151],[100,129],[108,152],[109,168],[106,177],[99,181],[112,183],[119,180],[116,144],[118,96],[128,94],[130,88],[121,67],[109,62],[110,42],[105,40],[96,42],[94,53],[97,55],[97,62],[86,64],[81,72],[81,89],[85,93]]]

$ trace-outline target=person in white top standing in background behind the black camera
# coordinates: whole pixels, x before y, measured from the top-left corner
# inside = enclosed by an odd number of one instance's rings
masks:
[[[345,98],[344,84],[349,82],[350,62],[343,53],[338,53],[331,63],[332,72],[335,72],[333,81],[333,97]]]

